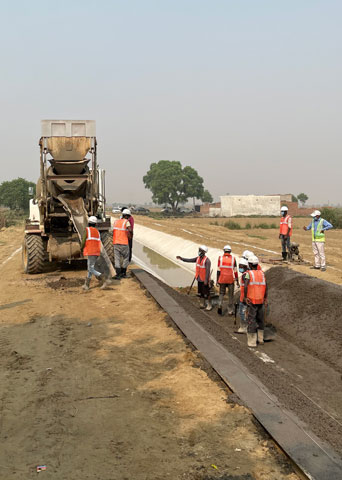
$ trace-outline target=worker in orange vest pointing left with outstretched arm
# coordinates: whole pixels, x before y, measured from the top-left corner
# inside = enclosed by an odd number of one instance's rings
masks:
[[[183,258],[177,255],[177,260],[188,263],[196,263],[195,278],[198,284],[198,294],[200,295],[200,308],[212,310],[212,302],[210,297],[210,276],[211,276],[211,262],[206,256],[208,247],[201,245],[198,248],[198,256],[194,258]]]

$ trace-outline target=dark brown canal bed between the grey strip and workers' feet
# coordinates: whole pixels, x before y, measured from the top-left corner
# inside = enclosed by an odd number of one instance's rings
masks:
[[[160,285],[208,333],[236,355],[249,371],[293,411],[323,441],[342,455],[342,382],[339,372],[319,358],[302,351],[280,334],[255,351],[245,335],[235,334],[234,317],[204,312],[198,298]],[[264,359],[271,359],[265,362]]]

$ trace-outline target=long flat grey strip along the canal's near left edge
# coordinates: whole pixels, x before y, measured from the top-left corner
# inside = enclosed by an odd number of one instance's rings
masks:
[[[342,460],[328,444],[283,408],[259,379],[188,315],[151,275],[141,269],[132,273],[308,479],[342,478]]]

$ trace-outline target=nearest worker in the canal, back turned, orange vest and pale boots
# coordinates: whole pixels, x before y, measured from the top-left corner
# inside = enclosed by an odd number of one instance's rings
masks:
[[[247,345],[256,347],[264,343],[264,308],[267,307],[265,274],[258,270],[256,256],[248,259],[249,270],[244,275],[243,303],[247,305]]]

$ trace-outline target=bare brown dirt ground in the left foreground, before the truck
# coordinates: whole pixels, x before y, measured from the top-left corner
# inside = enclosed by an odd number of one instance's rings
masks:
[[[133,278],[21,272],[0,232],[0,479],[296,480]]]

